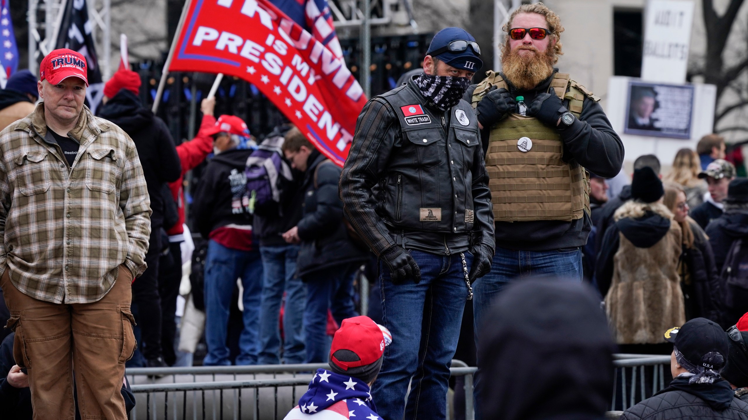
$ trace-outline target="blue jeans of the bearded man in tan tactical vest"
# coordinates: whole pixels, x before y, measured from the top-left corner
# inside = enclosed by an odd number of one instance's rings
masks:
[[[473,284],[473,316],[475,344],[478,346],[483,317],[491,309],[491,303],[506,285],[516,280],[528,278],[554,277],[558,280],[581,282],[583,276],[582,251],[580,248],[550,251],[519,251],[496,248],[491,272]],[[475,377],[476,420],[479,413],[480,359]]]

